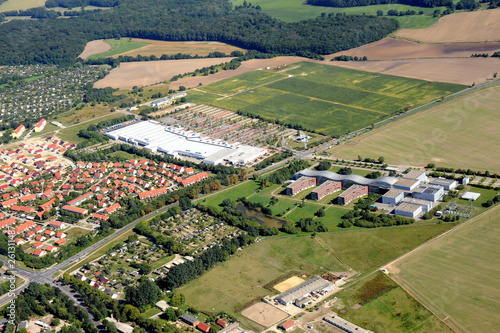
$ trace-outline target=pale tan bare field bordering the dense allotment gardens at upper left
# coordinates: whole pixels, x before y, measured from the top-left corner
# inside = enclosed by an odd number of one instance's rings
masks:
[[[104,79],[94,83],[95,88],[112,87],[131,89],[168,81],[174,75],[193,72],[196,69],[228,62],[233,58],[206,58],[127,62],[120,64]]]

